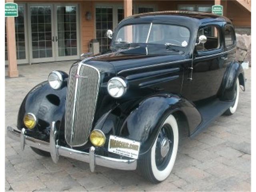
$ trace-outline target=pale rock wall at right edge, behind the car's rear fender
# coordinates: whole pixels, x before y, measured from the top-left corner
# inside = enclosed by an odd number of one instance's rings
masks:
[[[249,61],[251,66],[251,36],[236,34],[236,60]]]

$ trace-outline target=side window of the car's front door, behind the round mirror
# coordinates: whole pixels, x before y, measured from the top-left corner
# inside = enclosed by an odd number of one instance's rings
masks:
[[[200,35],[205,35],[207,37],[207,41],[205,44],[200,43],[196,46],[196,50],[198,52],[220,48],[220,32],[215,26],[200,28],[197,34],[197,42]]]

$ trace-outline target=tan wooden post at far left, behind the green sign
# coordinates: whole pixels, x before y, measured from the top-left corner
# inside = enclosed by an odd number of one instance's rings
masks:
[[[13,2],[13,0],[6,0]],[[18,77],[18,67],[16,58],[16,40],[15,40],[15,22],[14,17],[6,17],[6,36],[7,36],[7,51],[8,51],[8,76]]]

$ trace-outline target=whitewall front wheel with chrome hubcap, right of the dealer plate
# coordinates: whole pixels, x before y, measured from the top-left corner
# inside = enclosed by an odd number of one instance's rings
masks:
[[[138,169],[152,183],[165,180],[171,173],[178,150],[178,125],[172,114],[163,120],[152,148],[139,161]]]

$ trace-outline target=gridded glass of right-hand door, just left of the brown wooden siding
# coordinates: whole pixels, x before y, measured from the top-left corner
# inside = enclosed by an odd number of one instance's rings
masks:
[[[57,6],[58,56],[77,55],[76,6]]]

